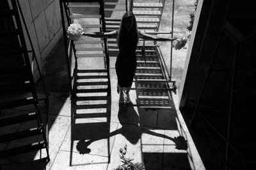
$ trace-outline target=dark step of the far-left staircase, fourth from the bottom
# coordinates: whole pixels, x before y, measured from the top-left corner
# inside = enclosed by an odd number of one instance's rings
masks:
[[[15,108],[28,104],[35,104],[35,100],[33,99],[33,97],[28,97],[27,99],[17,99],[13,101],[2,102],[0,103],[0,109]]]

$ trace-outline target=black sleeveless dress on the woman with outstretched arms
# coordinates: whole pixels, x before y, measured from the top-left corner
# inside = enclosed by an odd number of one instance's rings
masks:
[[[118,34],[118,31],[116,31]],[[127,41],[119,46],[119,53],[116,58],[116,75],[118,80],[118,85],[120,87],[131,87],[132,81],[135,75],[137,60],[136,60],[136,47],[132,41]]]

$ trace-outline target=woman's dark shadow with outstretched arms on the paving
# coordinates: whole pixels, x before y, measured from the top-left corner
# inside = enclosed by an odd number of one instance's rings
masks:
[[[177,136],[175,138],[171,138],[164,134],[159,134],[156,132],[152,132],[148,129],[140,127],[140,118],[138,113],[134,110],[134,106],[131,104],[119,104],[118,110],[118,120],[122,127],[109,133],[108,138],[111,136],[115,136],[116,134],[122,134],[132,145],[138,143],[141,138],[142,133],[150,134],[152,136],[157,136],[160,138],[166,138],[173,141],[176,145],[176,149],[178,150],[187,150],[188,143],[183,136]],[[90,149],[88,146],[94,141],[100,140],[101,138],[90,139],[89,141],[79,141],[77,143],[77,151],[80,154],[90,153]]]

